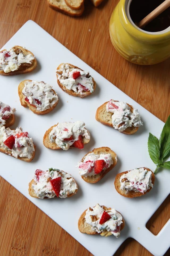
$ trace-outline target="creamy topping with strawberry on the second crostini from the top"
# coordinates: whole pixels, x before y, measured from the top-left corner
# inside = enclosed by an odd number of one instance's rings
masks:
[[[71,68],[68,64],[63,64],[57,70],[59,82],[68,90],[75,93],[84,94],[87,91],[93,93],[94,82],[89,72],[77,68]]]

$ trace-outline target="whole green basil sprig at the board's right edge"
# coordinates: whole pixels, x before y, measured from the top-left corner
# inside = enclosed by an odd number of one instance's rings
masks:
[[[170,161],[164,162],[170,156],[170,115],[163,127],[160,138],[149,133],[148,152],[152,161],[156,164],[156,173],[160,167],[170,169]]]

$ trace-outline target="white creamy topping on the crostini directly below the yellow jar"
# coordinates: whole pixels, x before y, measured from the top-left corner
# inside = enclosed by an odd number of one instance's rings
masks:
[[[113,101],[107,103],[107,112],[113,113],[112,124],[114,129],[119,131],[126,130],[127,127],[139,127],[143,125],[137,109],[130,111],[130,106],[126,102]]]

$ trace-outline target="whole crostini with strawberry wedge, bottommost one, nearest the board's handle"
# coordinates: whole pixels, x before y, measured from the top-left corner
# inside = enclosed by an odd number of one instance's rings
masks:
[[[79,231],[88,235],[114,235],[118,238],[124,226],[125,221],[118,211],[99,204],[86,209],[78,220]]]

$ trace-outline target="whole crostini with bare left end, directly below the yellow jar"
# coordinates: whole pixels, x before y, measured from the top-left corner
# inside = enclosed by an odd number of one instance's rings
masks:
[[[143,125],[137,109],[112,99],[98,107],[96,120],[125,134],[134,134]]]

